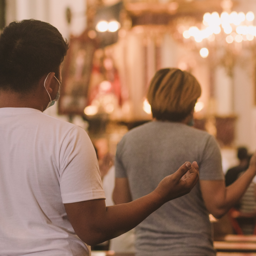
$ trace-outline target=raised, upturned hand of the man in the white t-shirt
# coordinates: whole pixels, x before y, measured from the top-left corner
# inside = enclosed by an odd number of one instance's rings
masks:
[[[172,175],[166,176],[154,190],[160,196],[160,200],[168,202],[180,196],[188,194],[199,179],[197,162],[186,162]]]

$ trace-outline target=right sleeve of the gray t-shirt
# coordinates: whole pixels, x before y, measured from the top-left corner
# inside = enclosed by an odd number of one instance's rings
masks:
[[[199,177],[201,180],[223,180],[220,148],[213,136],[209,136],[199,163]]]

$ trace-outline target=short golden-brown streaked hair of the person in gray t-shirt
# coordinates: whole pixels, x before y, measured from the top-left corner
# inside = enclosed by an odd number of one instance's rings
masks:
[[[157,120],[180,122],[193,110],[201,88],[194,76],[176,68],[160,69],[147,93],[152,115]]]

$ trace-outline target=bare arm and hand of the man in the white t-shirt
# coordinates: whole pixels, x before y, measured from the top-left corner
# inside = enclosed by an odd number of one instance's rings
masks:
[[[186,164],[165,177],[152,193],[127,204],[106,207],[104,199],[64,204],[74,231],[94,245],[131,230],[165,202],[190,192],[199,172],[196,162]]]

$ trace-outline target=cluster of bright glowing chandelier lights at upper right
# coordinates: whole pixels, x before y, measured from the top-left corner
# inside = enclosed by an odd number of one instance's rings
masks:
[[[221,15],[218,12],[205,13],[203,21],[196,26],[190,26],[183,31],[184,43],[194,41],[197,48],[200,47],[202,58],[208,57],[208,46],[213,44],[232,45],[234,49],[241,49],[244,45],[254,45],[256,37],[256,26],[253,26],[254,13],[223,11]]]

